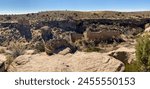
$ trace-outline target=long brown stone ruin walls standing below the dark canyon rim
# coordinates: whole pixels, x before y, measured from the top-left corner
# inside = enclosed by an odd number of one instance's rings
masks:
[[[77,40],[85,40],[87,42],[101,42],[109,40],[119,40],[121,32],[117,30],[101,30],[101,31],[90,31],[87,29],[83,34],[70,33],[70,42],[76,42]]]

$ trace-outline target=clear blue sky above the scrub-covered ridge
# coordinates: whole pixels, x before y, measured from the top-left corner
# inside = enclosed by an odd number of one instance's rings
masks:
[[[0,14],[49,10],[144,11],[150,10],[150,0],[0,0]]]

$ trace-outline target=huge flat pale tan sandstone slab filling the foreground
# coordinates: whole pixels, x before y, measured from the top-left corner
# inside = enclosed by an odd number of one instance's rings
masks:
[[[44,53],[22,55],[9,66],[8,72],[121,72],[124,64],[102,53],[76,52],[48,56]]]

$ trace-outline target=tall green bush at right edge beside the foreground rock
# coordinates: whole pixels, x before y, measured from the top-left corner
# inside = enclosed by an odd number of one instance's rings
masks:
[[[150,71],[150,35],[146,34],[137,39],[136,59],[140,71]]]

